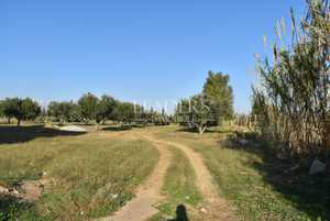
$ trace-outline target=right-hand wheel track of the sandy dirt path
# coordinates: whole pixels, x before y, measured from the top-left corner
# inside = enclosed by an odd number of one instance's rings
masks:
[[[184,144],[155,139],[150,134],[145,134],[144,137],[155,144],[170,145],[179,148],[187,155],[196,172],[196,185],[205,199],[200,208],[202,221],[235,220],[229,203],[219,196],[218,188],[213,184],[213,178],[198,153]]]

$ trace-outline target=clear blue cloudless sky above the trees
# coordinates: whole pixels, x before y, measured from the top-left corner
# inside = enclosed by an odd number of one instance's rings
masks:
[[[0,0],[0,98],[163,102],[199,92],[213,70],[248,112],[253,55],[290,7],[305,0]]]

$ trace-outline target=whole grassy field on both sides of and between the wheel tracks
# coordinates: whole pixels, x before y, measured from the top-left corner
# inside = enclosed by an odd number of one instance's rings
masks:
[[[38,125],[0,126],[0,185],[46,180],[44,194],[35,203],[0,196],[2,219],[87,220],[120,209],[160,157],[151,142],[136,136],[141,130],[199,153],[219,194],[233,206],[240,220],[330,220],[329,177],[310,177],[304,168],[284,173],[290,165],[275,159],[266,144],[227,145],[228,130],[202,136],[178,126],[67,134]],[[191,212],[202,201],[194,162],[174,146],[168,150],[172,159],[162,190],[166,198],[152,221],[177,220],[179,205]],[[194,212],[189,218],[198,220]]]

